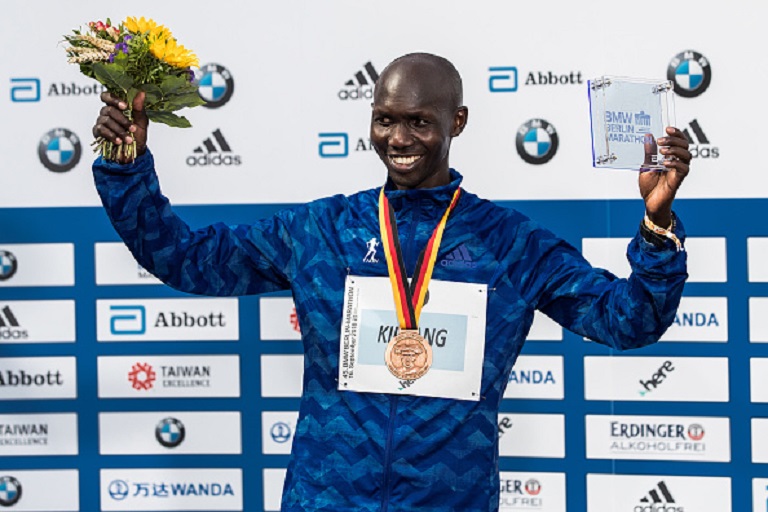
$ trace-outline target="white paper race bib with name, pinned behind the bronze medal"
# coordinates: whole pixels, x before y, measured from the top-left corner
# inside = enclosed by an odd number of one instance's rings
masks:
[[[366,393],[479,400],[485,351],[488,287],[431,280],[419,332],[432,347],[432,365],[416,380],[402,380],[385,363],[399,332],[386,277],[347,276],[339,350],[339,389]]]

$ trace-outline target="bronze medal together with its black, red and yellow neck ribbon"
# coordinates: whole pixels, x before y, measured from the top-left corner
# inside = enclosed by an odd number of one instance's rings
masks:
[[[442,219],[432,232],[427,246],[421,251],[416,262],[416,270],[410,284],[405,273],[400,238],[397,234],[395,212],[384,194],[384,187],[379,193],[379,228],[384,254],[387,259],[389,281],[395,299],[400,332],[387,344],[384,362],[389,371],[401,380],[416,380],[424,376],[432,366],[432,346],[419,334],[418,323],[421,308],[427,296],[429,281],[437,260],[437,250],[443,238],[448,215],[459,201],[461,189],[457,188],[451,204],[445,210]]]

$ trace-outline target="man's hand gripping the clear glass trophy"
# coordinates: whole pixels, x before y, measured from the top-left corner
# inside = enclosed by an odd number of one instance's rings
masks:
[[[662,156],[666,157],[663,162],[666,169],[641,170],[638,178],[648,218],[663,228],[672,224],[672,201],[690,171],[692,158],[683,132],[672,126],[667,127],[666,132],[666,137],[656,141]],[[656,144],[651,144],[654,150]]]

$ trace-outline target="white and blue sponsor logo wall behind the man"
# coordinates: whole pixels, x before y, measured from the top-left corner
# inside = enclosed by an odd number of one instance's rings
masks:
[[[16,0],[0,17],[0,507],[279,509],[302,378],[291,298],[165,287],[93,190],[101,89],[66,64],[61,35],[144,15],[201,61],[193,127],[150,133],[195,226],[380,185],[372,84],[392,58],[431,51],[464,78],[451,163],[465,187],[627,275],[642,202],[633,172],[590,165],[586,82],[673,80],[695,157],[676,203],[680,312],[661,343],[624,354],[536,317],[501,406],[500,508],[768,511],[768,67],[750,51],[766,46],[764,5],[105,5]],[[438,264],[475,263],[459,248]]]

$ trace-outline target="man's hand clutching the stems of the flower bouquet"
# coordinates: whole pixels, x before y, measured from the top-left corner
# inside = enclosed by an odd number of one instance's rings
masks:
[[[136,155],[143,155],[147,149],[147,127],[149,119],[144,112],[144,93],[140,92],[133,100],[133,121],[123,113],[128,105],[108,92],[101,94],[101,101],[106,105],[99,111],[93,136],[103,137],[113,144],[131,144],[136,141]]]

